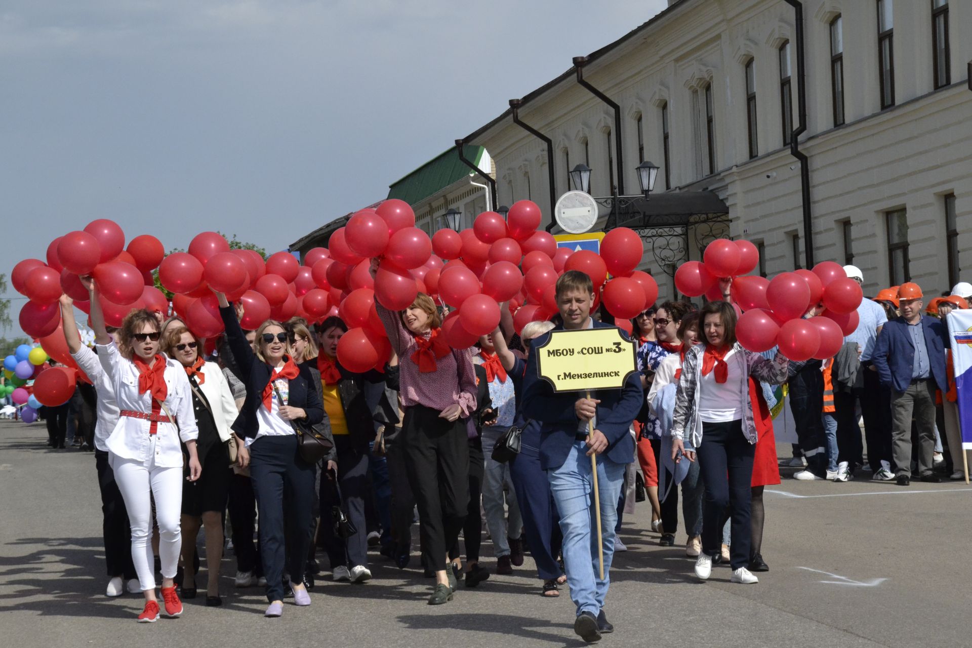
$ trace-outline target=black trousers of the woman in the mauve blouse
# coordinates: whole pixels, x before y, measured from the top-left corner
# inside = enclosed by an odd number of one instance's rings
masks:
[[[445,569],[446,552],[466,522],[469,506],[469,439],[466,420],[449,423],[429,407],[405,409],[401,449],[408,483],[419,508],[422,558]]]

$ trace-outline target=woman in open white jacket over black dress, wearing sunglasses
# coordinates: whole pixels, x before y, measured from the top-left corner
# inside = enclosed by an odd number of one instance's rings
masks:
[[[242,445],[229,426],[236,420],[236,402],[223,370],[202,356],[202,341],[181,323],[169,326],[162,351],[178,360],[186,370],[192,392],[192,411],[199,428],[196,450],[202,472],[199,479],[183,485],[183,582],[182,597],[194,598],[195,538],[199,527],[206,529],[206,605],[222,605],[220,562],[223,560],[223,514],[229,496],[228,444]],[[243,449],[246,452],[246,449]]]

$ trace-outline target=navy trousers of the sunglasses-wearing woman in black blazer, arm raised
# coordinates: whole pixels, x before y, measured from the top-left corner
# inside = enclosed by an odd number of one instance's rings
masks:
[[[284,563],[295,583],[303,581],[307,565],[314,466],[297,456],[294,434],[263,436],[250,446],[250,475],[260,510],[266,599],[283,600]]]

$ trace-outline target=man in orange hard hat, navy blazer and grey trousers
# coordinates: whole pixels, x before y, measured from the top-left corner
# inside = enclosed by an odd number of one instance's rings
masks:
[[[921,315],[923,295],[917,284],[898,289],[901,317],[885,324],[871,355],[883,385],[891,390],[891,443],[898,486],[911,484],[911,423],[919,434],[922,482],[941,482],[933,473],[935,390],[947,392],[945,349],[948,333],[935,318]]]

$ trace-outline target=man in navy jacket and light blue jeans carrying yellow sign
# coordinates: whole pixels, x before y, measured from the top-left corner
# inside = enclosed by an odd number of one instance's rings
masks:
[[[563,324],[554,330],[606,326],[591,319],[594,289],[586,274],[575,270],[564,273],[557,280],[556,296]],[[531,345],[523,379],[523,414],[541,425],[540,467],[546,471],[560,513],[567,583],[576,605],[573,631],[584,641],[597,641],[602,632],[613,630],[604,605],[610,583],[608,571],[614,554],[617,502],[625,465],[635,459],[635,441],[629,429],[638,416],[644,394],[637,376],[629,377],[621,390],[595,392],[592,398],[554,393],[550,384],[538,377],[537,349],[549,336],[550,333],[540,335]],[[591,420],[594,421],[594,433],[588,436]],[[597,543],[592,540],[597,533],[591,501],[592,454],[598,456],[605,561],[603,580],[599,578]]]

